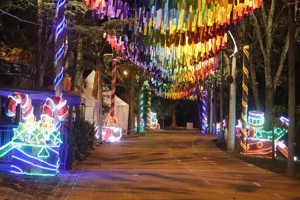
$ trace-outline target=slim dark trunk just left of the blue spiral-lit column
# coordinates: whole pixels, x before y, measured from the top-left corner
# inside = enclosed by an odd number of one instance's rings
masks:
[[[37,57],[36,57],[36,86],[43,87],[44,74],[42,74],[42,24],[43,24],[43,14],[42,14],[42,0],[37,1],[37,17],[38,17],[38,35],[37,35]]]

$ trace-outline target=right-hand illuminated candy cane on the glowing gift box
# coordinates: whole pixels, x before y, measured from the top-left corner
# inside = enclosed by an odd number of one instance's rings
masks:
[[[54,111],[58,110],[58,119],[64,121],[66,115],[68,114],[67,101],[60,96],[53,96],[47,98],[45,104],[43,105],[43,112],[41,115],[41,120],[45,122],[49,117],[53,117]]]

